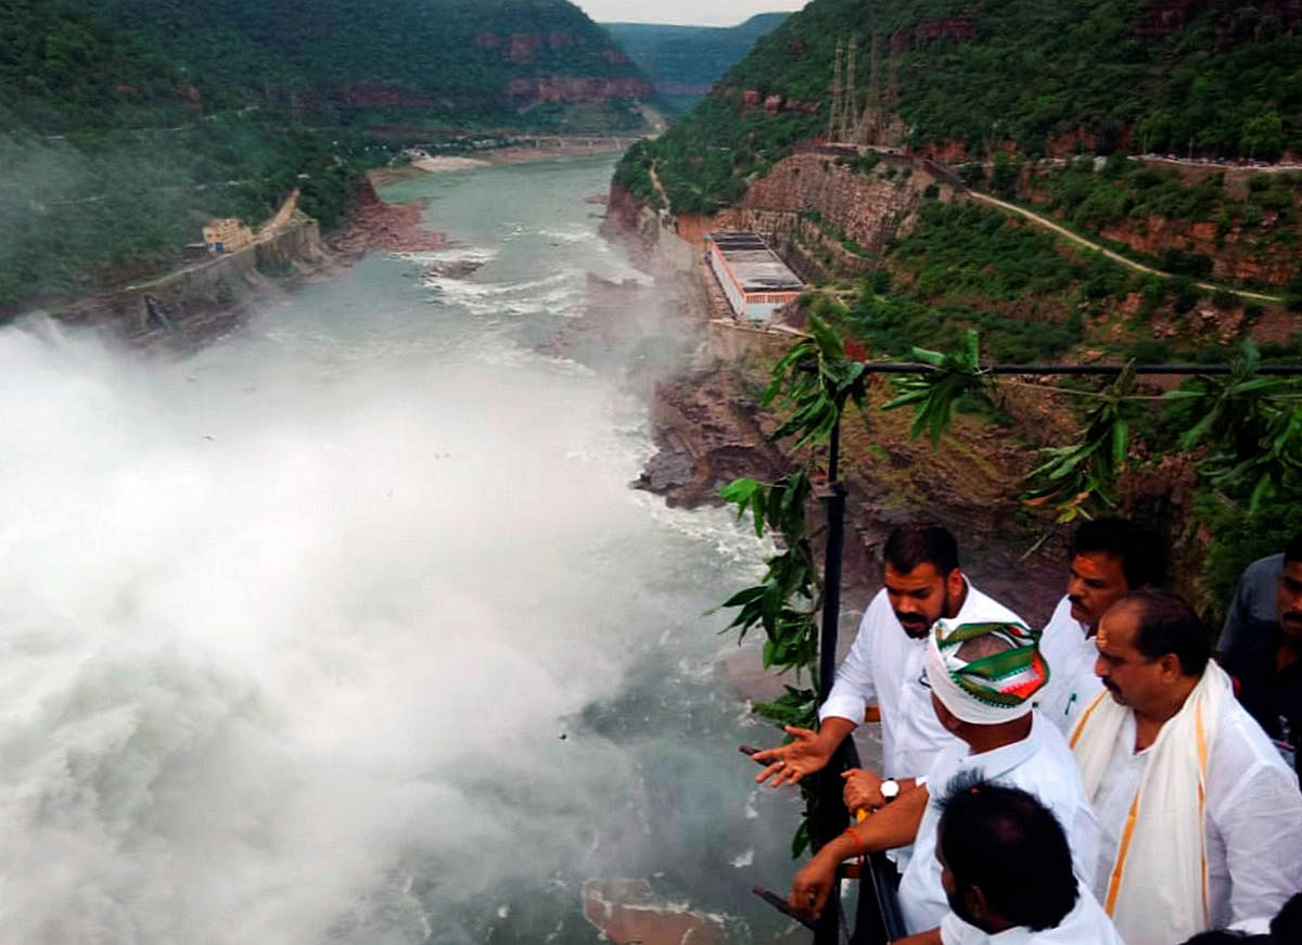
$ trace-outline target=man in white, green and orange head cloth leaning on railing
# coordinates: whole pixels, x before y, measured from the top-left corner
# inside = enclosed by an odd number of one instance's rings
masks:
[[[1034,794],[1062,825],[1077,876],[1091,886],[1099,824],[1066,741],[1031,711],[1031,695],[1048,678],[1038,642],[1039,633],[1021,623],[936,622],[927,640],[931,704],[940,724],[961,743],[941,752],[917,786],[825,843],[796,876],[793,909],[822,911],[842,859],[913,843],[900,881],[905,925],[918,942],[943,941],[939,927],[949,903],[936,860],[940,807],[928,785],[943,790],[965,772]],[[852,808],[855,801],[846,798]]]

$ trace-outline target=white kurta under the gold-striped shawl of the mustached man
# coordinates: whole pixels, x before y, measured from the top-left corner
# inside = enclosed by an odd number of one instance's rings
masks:
[[[1099,881],[1117,856],[1130,803],[1151,748],[1134,751],[1134,712],[1121,728],[1107,774],[1094,797],[1103,828]],[[1141,816],[1142,811],[1141,811]],[[1208,928],[1275,915],[1302,892],[1302,793],[1262,726],[1233,699],[1207,758]]]

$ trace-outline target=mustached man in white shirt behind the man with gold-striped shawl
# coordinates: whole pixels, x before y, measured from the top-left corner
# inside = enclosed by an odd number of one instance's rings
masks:
[[[1164,558],[1157,539],[1124,518],[1099,518],[1075,530],[1068,552],[1066,594],[1040,638],[1049,682],[1035,699],[1035,708],[1060,732],[1070,732],[1081,711],[1103,690],[1094,674],[1099,618],[1130,591],[1157,587]]]

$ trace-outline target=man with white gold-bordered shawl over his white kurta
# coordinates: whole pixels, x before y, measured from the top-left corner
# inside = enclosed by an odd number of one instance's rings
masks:
[[[1138,591],[1103,616],[1107,692],[1072,748],[1103,827],[1098,885],[1128,945],[1273,915],[1302,890],[1302,793],[1212,663],[1194,610]]]

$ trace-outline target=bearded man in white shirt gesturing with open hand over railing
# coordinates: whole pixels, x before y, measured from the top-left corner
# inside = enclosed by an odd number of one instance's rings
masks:
[[[960,623],[1022,621],[967,582],[958,568],[958,544],[945,528],[900,526],[888,536],[881,558],[884,587],[865,610],[832,691],[819,707],[819,730],[788,726],[794,738],[790,745],[756,751],[755,760],[766,768],[755,781],[777,788],[820,771],[874,700],[881,709],[883,771],[891,776],[887,793],[892,797],[905,778],[924,774],[941,748],[961,747],[931,709],[923,673],[927,631],[941,618]],[[846,776],[867,793],[872,807],[885,803],[876,772]]]

